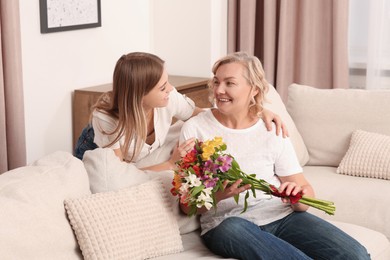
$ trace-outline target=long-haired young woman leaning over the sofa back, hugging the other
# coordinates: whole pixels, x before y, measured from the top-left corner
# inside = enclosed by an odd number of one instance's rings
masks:
[[[113,90],[95,104],[92,128],[84,129],[75,155],[82,159],[85,150],[109,147],[121,160],[137,162],[164,145],[172,118],[185,121],[201,111],[169,83],[162,59],[143,52],[123,55],[114,69]],[[269,129],[274,120],[277,134],[280,129],[287,133],[279,116],[264,111],[263,118]],[[193,144],[193,139],[187,140],[173,150],[168,161],[145,169],[173,169],[180,153]]]

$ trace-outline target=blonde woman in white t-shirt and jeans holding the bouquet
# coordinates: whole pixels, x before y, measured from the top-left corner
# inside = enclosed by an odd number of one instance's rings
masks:
[[[259,113],[268,83],[262,65],[254,56],[234,53],[217,61],[211,82],[216,108],[191,118],[182,127],[180,140],[209,140],[222,137],[226,152],[241,169],[285,191],[314,197],[310,183],[302,174],[288,138],[268,132]],[[206,126],[207,127],[203,127]],[[285,199],[257,192],[244,207],[240,196],[250,188],[241,180],[216,194],[217,211],[198,209],[202,238],[215,254],[237,259],[369,259],[366,249],[352,237]],[[189,212],[185,204],[181,209]]]

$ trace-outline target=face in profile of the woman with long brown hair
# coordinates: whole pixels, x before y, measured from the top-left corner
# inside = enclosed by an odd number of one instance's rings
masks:
[[[164,70],[156,86],[142,98],[142,105],[145,110],[156,107],[166,107],[169,102],[169,93],[172,89],[173,86],[168,81],[168,73]]]

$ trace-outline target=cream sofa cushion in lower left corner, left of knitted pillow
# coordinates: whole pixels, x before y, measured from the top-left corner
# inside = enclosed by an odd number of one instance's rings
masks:
[[[67,152],[0,175],[1,259],[81,259],[63,201],[90,193],[82,162]]]

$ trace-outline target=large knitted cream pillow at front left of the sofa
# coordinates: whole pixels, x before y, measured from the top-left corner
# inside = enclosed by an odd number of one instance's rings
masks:
[[[146,259],[183,250],[158,178],[64,203],[84,259]]]

